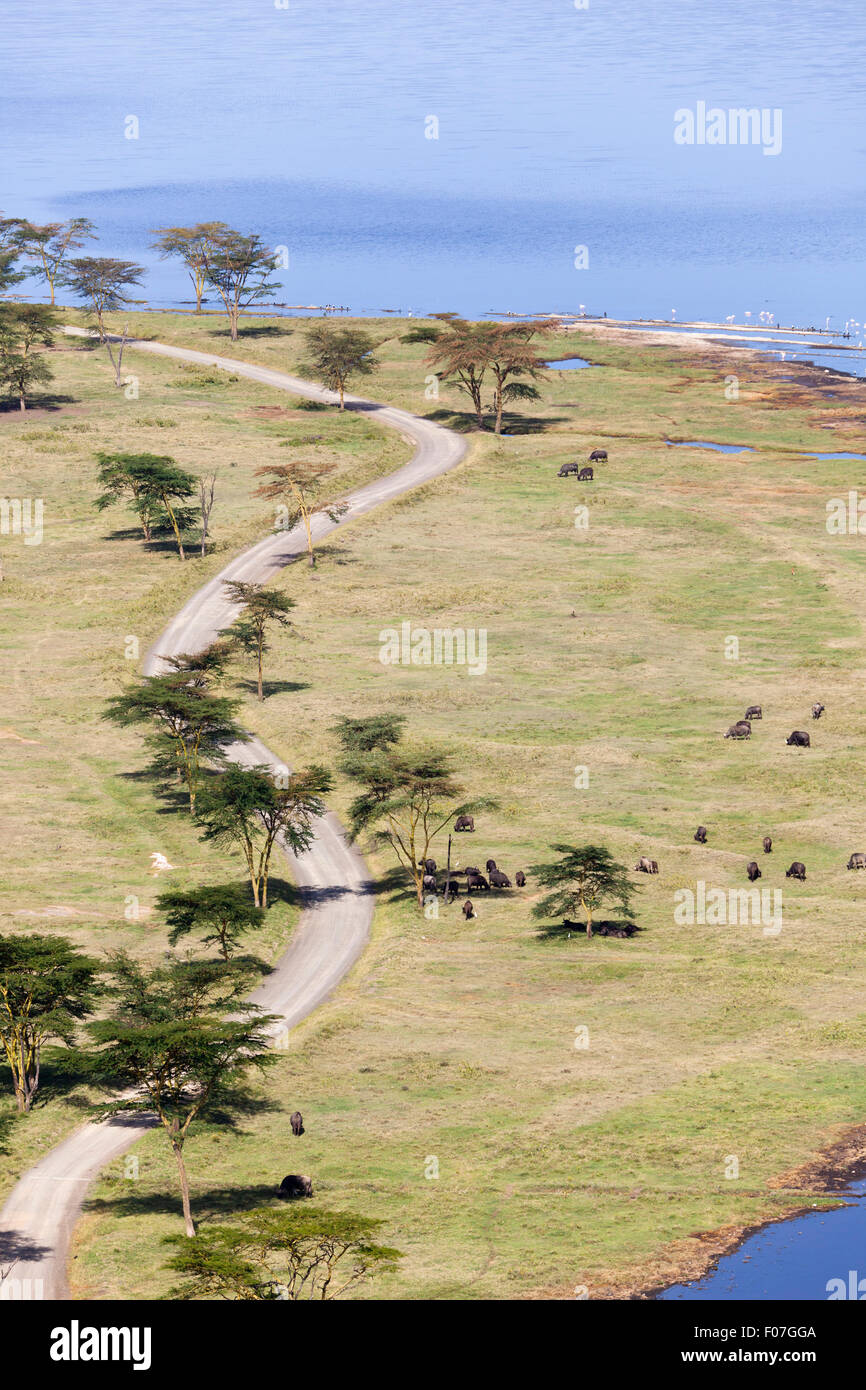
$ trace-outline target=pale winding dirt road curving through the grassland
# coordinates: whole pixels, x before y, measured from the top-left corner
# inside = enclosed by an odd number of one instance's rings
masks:
[[[67,329],[67,332],[82,335],[82,329]],[[322,386],[232,357],[217,357],[213,353],[138,339],[129,343],[129,350],[132,349],[207,367],[221,367],[278,391],[310,396],[329,404],[336,402],[334,392]],[[379,406],[359,396],[346,396],[346,409],[363,410],[371,420],[398,430],[416,445],[416,452],[396,473],[353,492],[346,499],[349,510],[339,521],[317,516],[313,521],[313,534],[317,539],[379,503],[389,502],[446,473],[466,452],[466,443],[459,435],[393,406]],[[145,659],[145,673],[153,674],[160,670],[160,656],[195,652],[207,646],[218,630],[235,619],[239,610],[227,602],[224,580],[264,584],[304,549],[306,535],[302,527],[296,527],[265,537],[234,559],[215,578],[200,588],[168,624]],[[256,738],[249,744],[235,744],[229,749],[229,756],[243,763],[279,766],[279,760]],[[348,842],[343,827],[335,816],[325,815],[317,821],[316,841],[306,855],[295,858],[285,847],[282,848],[289,859],[291,873],[303,892],[304,906],[288,951],[252,997],[256,1004],[282,1019],[279,1031],[299,1023],[332,992],[363,951],[373,920],[371,884],[364,860]],[[67,1284],[70,1238],[88,1187],[103,1168],[146,1133],[147,1126],[142,1125],[140,1119],[129,1116],[83,1125],[19,1179],[0,1212],[0,1268],[6,1270],[13,1266],[0,1286],[0,1297],[46,1300],[70,1297]]]

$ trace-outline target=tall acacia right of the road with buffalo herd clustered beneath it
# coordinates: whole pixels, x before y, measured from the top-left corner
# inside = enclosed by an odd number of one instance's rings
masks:
[[[423,908],[424,860],[436,835],[455,816],[492,808],[495,802],[464,801],[446,753],[438,748],[403,746],[398,742],[399,726],[382,724],[388,716],[377,719],[378,724],[354,720],[338,727],[343,746],[339,769],[361,787],[349,806],[352,838],[371,830],[375,844],[388,845],[409,869]]]

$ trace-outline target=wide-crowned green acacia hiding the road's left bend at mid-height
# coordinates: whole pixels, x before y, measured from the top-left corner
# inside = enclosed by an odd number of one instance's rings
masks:
[[[122,727],[150,727],[152,767],[157,774],[174,774],[186,787],[193,816],[204,766],[222,764],[229,744],[249,739],[235,723],[240,701],[214,695],[210,684],[206,671],[145,676],[138,685],[113,695],[104,714]]]

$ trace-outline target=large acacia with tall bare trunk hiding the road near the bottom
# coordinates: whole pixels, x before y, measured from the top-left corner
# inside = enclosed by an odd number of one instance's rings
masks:
[[[277,1058],[267,1026],[277,1022],[240,999],[249,967],[172,960],[146,973],[113,959],[115,1009],[89,1024],[96,1044],[82,1056],[90,1074],[121,1088],[103,1113],[156,1113],[178,1166],[186,1236],[196,1234],[183,1145],[196,1119],[238,1106],[238,1083]],[[132,1094],[129,1094],[132,1093]]]

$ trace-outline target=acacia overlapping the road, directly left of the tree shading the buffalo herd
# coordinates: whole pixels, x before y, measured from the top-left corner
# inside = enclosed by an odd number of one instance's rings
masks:
[[[265,763],[231,763],[202,788],[196,816],[202,838],[240,851],[257,908],[268,905],[274,844],[281,840],[292,853],[304,853],[316,838],[313,820],[324,815],[321,798],[329,790],[331,774],[324,767],[279,773],[275,780]]]

